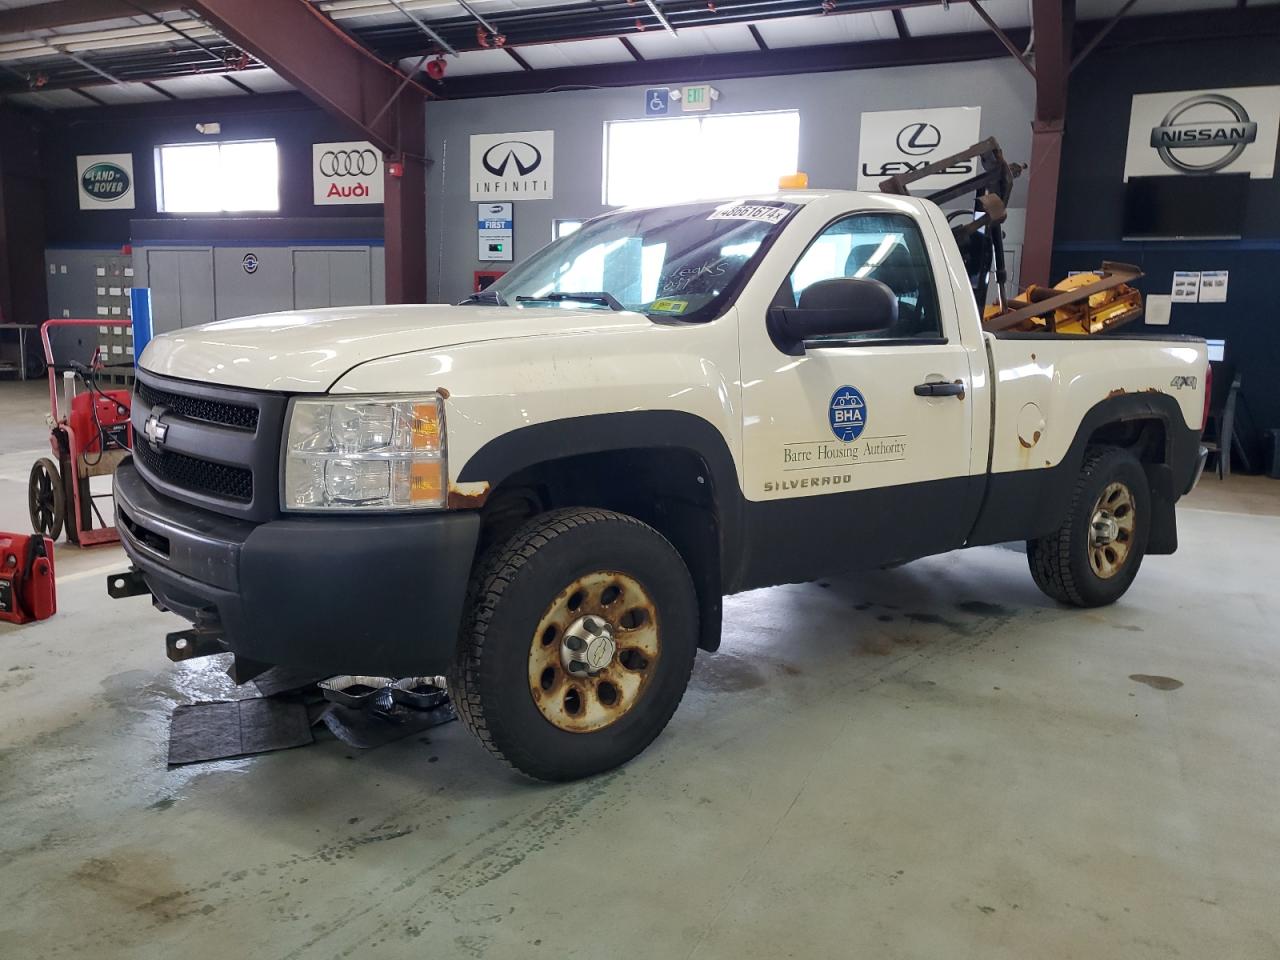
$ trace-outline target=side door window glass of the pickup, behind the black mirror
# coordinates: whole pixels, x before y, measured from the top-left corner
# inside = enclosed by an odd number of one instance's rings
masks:
[[[870,330],[838,339],[942,337],[929,252],[910,218],[855,214],[837,220],[818,234],[795,265],[790,296],[800,305],[805,288],[837,276],[879,280],[897,297],[897,321],[887,333]]]

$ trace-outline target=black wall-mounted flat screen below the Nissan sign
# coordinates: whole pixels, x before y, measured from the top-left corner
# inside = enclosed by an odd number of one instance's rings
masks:
[[[1247,173],[1130,177],[1124,195],[1125,239],[1239,239]]]

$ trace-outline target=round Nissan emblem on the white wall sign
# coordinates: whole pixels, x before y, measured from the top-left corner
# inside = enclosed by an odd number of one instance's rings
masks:
[[[1217,173],[1257,138],[1258,124],[1240,101],[1225,93],[1187,97],[1151,131],[1151,146],[1178,173]]]

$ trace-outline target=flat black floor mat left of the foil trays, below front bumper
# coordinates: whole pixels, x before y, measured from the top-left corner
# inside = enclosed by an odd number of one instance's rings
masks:
[[[224,760],[314,742],[301,700],[261,698],[175,707],[169,722],[169,765]]]

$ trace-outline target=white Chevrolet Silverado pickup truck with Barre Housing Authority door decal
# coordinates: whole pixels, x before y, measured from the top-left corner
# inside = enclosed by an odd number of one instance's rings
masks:
[[[1207,396],[1198,339],[984,333],[928,201],[623,210],[462,305],[152,340],[109,582],[192,622],[175,659],[447,673],[570,780],[658,736],[726,594],[1027,540],[1111,603],[1176,548]]]

